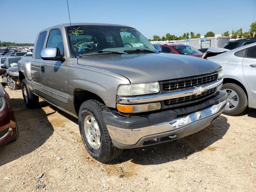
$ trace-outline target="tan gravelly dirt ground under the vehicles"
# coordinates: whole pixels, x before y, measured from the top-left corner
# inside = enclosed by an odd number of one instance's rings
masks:
[[[76,118],[42,100],[40,108],[29,110],[21,90],[5,89],[20,137],[0,148],[0,192],[255,192],[256,110],[222,115],[196,134],[124,150],[113,162],[102,164],[86,152]]]

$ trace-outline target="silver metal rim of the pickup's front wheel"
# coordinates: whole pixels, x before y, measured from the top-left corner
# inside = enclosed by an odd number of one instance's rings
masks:
[[[87,115],[84,118],[84,132],[90,146],[95,150],[99,149],[101,144],[100,128],[94,116]]]

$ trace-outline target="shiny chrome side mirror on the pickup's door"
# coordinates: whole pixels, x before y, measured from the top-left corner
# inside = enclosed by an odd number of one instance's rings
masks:
[[[56,47],[44,48],[41,51],[41,57],[43,60],[52,60],[52,61],[64,61],[62,54],[60,54],[60,49]]]

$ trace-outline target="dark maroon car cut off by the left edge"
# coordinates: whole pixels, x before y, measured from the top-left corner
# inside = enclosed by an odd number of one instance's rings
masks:
[[[0,75],[6,73],[5,69],[0,69]],[[14,141],[18,138],[18,126],[12,110],[9,95],[0,84],[0,146]]]

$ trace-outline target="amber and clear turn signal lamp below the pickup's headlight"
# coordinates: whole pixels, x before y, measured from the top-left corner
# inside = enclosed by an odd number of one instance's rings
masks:
[[[121,105],[117,104],[117,109],[124,113],[141,113],[161,109],[161,103],[148,103],[140,105]]]

